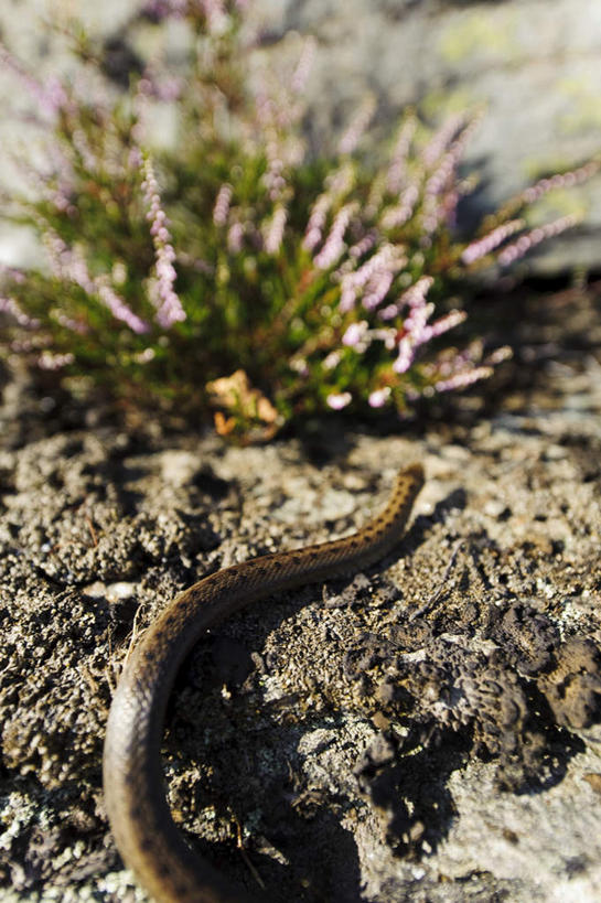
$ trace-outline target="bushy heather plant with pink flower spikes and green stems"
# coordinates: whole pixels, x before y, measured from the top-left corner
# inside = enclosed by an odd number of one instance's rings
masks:
[[[532,227],[528,209],[598,162],[540,180],[465,239],[457,208],[475,182],[460,166],[480,114],[430,131],[409,110],[366,155],[367,100],[315,159],[301,128],[311,42],[287,77],[250,77],[244,3],[152,0],[140,15],[159,33],[185,23],[183,72],[157,55],[117,90],[73,28],[71,78],[41,83],[1,52],[47,136],[42,164],[20,160],[30,190],[4,201],[45,251],[0,273],[4,353],[127,407],[213,411],[245,438],[332,409],[406,415],[490,376],[509,351],[466,329],[474,276],[572,226]],[[158,147],[165,105],[176,137]]]

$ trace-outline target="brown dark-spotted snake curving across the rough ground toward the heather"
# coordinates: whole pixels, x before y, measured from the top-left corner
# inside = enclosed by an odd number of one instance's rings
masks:
[[[423,470],[401,471],[388,505],[343,539],[264,555],[217,571],[180,593],[149,627],[127,662],[107,724],[105,800],[117,847],[148,893],[161,903],[249,900],[194,854],[171,817],[160,746],[167,701],[198,637],[249,602],[340,577],[374,563],[398,541]]]

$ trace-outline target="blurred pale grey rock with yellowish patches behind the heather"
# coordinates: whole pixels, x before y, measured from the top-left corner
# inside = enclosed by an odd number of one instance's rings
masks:
[[[153,52],[154,30],[132,17],[133,0],[3,0],[0,36],[36,73],[68,66],[60,34],[49,23],[81,18],[105,42],[106,66],[116,85]],[[484,105],[466,163],[482,174],[464,205],[465,225],[540,174],[577,165],[601,148],[601,3],[599,0],[257,0],[247,4],[249,54],[273,60],[298,54],[303,37],[315,39],[307,86],[304,128],[314,149],[326,147],[366,95],[378,103],[373,129],[385,128],[408,105],[433,122],[453,110]],[[183,60],[185,33],[171,21],[174,69]],[[14,80],[0,73],[4,109],[15,98]],[[26,104],[19,98],[18,105]],[[2,116],[0,141],[14,138],[12,117]],[[10,136],[9,136],[10,131]],[[158,139],[169,141],[163,112]],[[0,181],[15,176],[3,162]],[[527,266],[557,275],[573,267],[598,268],[601,176],[554,196],[551,216],[584,213],[583,223],[546,244]],[[2,224],[0,260],[26,265],[35,247],[25,233]]]

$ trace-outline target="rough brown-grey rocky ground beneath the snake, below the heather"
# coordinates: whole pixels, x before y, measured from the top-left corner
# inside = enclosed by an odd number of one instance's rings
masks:
[[[394,555],[198,643],[175,817],[275,903],[601,899],[599,297],[503,303],[516,363],[484,404],[379,431],[232,448],[4,385],[1,899],[146,899],[100,786],[132,634],[203,574],[351,531],[412,460]]]

